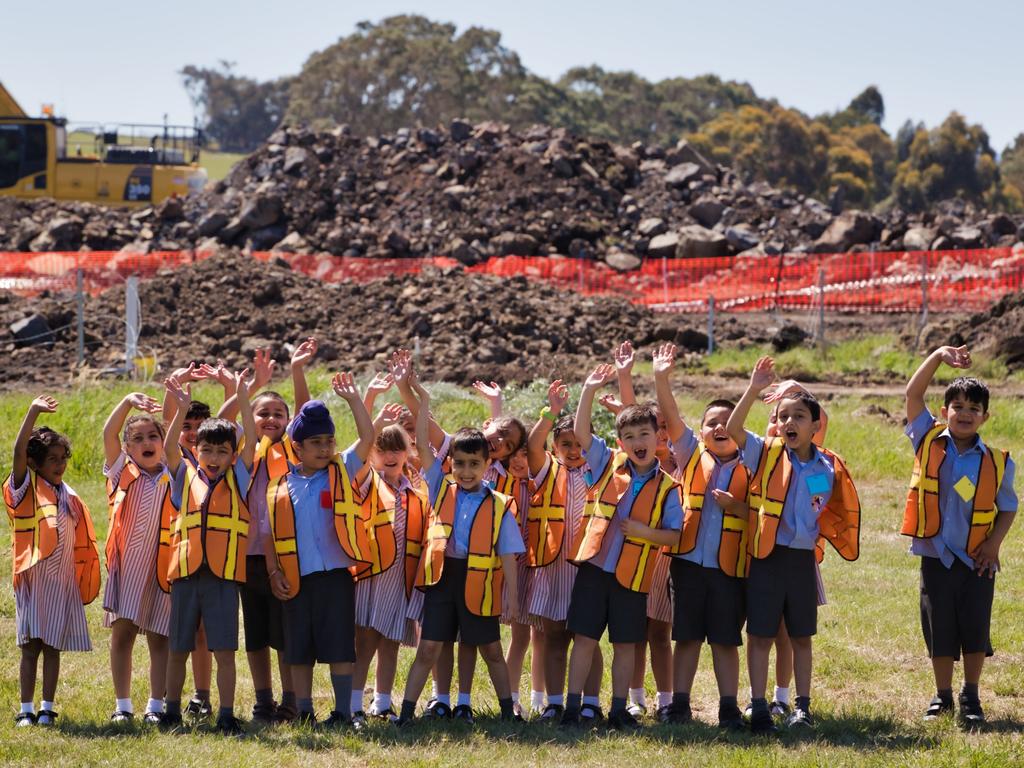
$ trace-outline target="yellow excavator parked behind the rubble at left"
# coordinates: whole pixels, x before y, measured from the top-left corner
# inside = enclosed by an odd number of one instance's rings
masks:
[[[174,125],[76,128],[69,154],[68,121],[43,108],[30,118],[0,83],[0,195],[145,206],[206,184],[199,166],[203,132]],[[92,146],[83,151],[81,137]]]

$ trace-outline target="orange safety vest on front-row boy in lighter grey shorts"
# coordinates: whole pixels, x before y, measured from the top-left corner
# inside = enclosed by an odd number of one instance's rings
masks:
[[[248,537],[249,508],[239,488],[234,468],[228,467],[223,478],[211,488],[202,472],[185,464],[181,506],[171,520],[168,582],[189,577],[206,563],[218,579],[245,583]]]

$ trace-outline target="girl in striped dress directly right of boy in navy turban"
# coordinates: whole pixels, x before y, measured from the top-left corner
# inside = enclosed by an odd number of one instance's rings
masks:
[[[371,384],[371,388],[374,384]],[[364,403],[367,396],[364,396]],[[396,718],[391,689],[398,646],[416,646],[416,623],[407,617],[416,567],[420,562],[427,514],[425,494],[414,487],[409,467],[410,439],[398,426],[402,407],[386,404],[374,420],[376,439],[369,472],[359,483],[367,509],[371,558],[355,569],[355,671],[352,720],[362,723],[362,691],[370,664],[377,658],[370,715]]]

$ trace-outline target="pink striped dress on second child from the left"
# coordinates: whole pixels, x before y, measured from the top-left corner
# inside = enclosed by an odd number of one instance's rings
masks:
[[[123,452],[103,475],[115,485],[131,461]],[[160,545],[160,512],[164,494],[170,489],[166,469],[151,475],[139,470],[121,506],[120,525],[127,531],[124,551],[106,563],[103,591],[103,626],[127,618],[140,630],[165,637],[170,633],[171,596],[157,582],[157,549]]]

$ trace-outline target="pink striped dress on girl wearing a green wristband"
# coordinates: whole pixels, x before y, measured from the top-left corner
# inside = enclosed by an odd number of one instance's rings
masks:
[[[537,485],[544,482],[547,473],[551,471],[551,457],[544,468],[538,473]],[[572,585],[575,583],[577,566],[565,558],[568,557],[572,541],[583,522],[583,508],[587,503],[587,465],[578,469],[569,469],[565,484],[565,535],[558,559],[542,568],[530,568],[532,571],[529,583],[529,613],[552,622],[564,622],[569,611],[569,598],[572,596]]]

